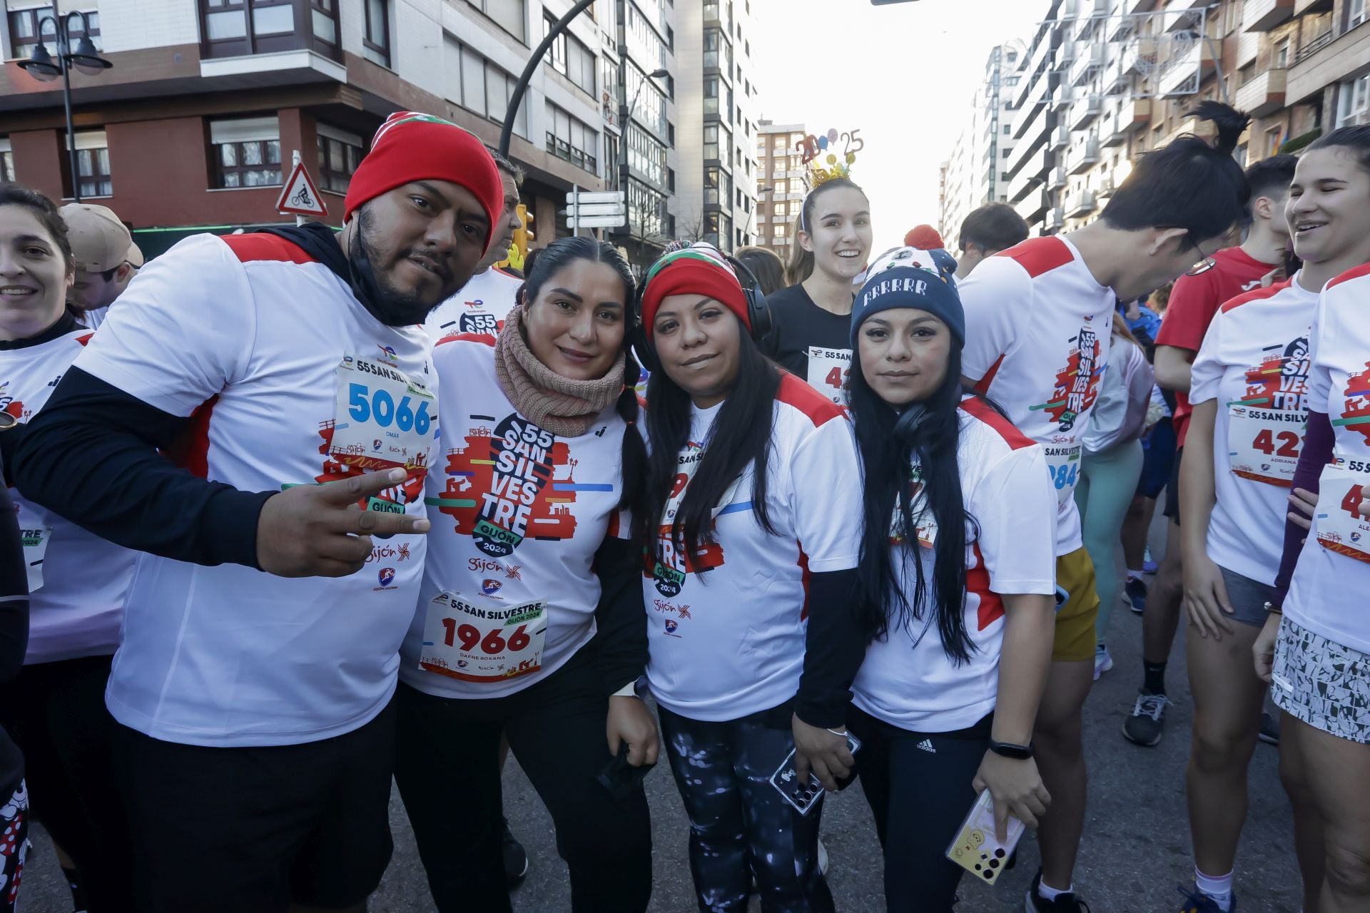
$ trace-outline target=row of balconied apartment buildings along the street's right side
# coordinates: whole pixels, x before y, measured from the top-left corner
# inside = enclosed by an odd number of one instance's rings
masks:
[[[1099,218],[1138,156],[1208,125],[1206,99],[1252,115],[1243,164],[1370,120],[1366,0],[1049,0],[1011,101],[1007,201],[1034,234]],[[944,170],[956,205],[966,144]]]

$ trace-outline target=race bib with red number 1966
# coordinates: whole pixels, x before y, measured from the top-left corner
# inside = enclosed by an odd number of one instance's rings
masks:
[[[419,668],[490,683],[543,668],[547,602],[501,602],[443,591],[429,602]]]

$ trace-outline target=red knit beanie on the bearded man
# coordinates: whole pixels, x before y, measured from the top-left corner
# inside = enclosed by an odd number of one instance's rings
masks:
[[[451,181],[470,190],[485,209],[495,237],[495,223],[504,209],[504,185],[499,168],[475,134],[430,114],[397,111],[385,119],[371,140],[371,151],[352,174],[342,201],[342,220],[369,200],[411,181]]]

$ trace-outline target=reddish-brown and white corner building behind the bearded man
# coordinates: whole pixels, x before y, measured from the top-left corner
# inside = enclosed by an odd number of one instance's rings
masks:
[[[660,0],[664,3],[664,0]],[[514,125],[512,157],[545,244],[566,192],[615,175],[623,7],[600,0],[556,41]],[[84,198],[111,207],[156,253],[192,230],[278,223],[299,151],[329,208],[393,111],[436,114],[496,144],[533,47],[571,0],[62,0],[89,14],[112,67],[73,73]],[[71,196],[60,82],[21,70],[52,7],[5,0],[0,177]],[[41,23],[52,48],[52,26]],[[664,129],[663,129],[664,130]],[[558,231],[560,227],[560,231]]]

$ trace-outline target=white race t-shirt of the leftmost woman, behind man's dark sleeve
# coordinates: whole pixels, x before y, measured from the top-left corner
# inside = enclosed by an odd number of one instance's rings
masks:
[[[0,409],[29,422],[85,349],[81,327],[22,349],[0,350]],[[111,483],[116,483],[111,479]],[[111,656],[137,553],[107,542],[10,489],[29,565],[25,665]]]

